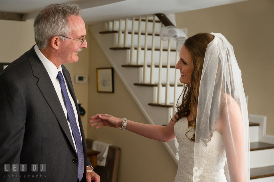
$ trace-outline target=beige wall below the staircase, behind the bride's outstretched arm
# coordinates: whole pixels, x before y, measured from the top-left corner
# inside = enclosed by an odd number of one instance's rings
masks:
[[[114,71],[114,93],[98,93],[96,68],[111,67],[99,45],[90,36],[88,114],[108,113],[148,124],[130,93]],[[162,142],[150,140],[120,128],[88,126],[88,138],[121,148],[118,182],[174,181],[177,165]]]

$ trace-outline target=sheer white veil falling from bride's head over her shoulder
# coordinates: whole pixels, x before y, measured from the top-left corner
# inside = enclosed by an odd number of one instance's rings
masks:
[[[229,171],[227,181],[244,174],[245,181],[249,181],[249,123],[241,71],[232,45],[222,34],[211,34],[215,37],[206,48],[199,88],[193,181],[203,181],[204,167],[212,165],[201,153],[213,135],[218,135],[216,124],[225,128],[222,137]],[[218,145],[210,147],[219,150]]]

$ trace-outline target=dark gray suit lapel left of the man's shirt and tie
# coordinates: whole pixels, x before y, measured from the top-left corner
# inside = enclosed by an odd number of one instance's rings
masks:
[[[35,53],[34,47],[31,48],[28,52],[28,59],[31,64],[31,68],[33,70],[33,75],[39,79],[37,82],[37,86],[39,87],[41,93],[43,94],[45,100],[49,104],[49,107],[53,111],[55,117],[57,118],[61,128],[63,129],[65,135],[67,136],[70,144],[72,145],[74,151],[75,147],[72,141],[72,137],[70,134],[70,130],[68,127],[67,119],[64,114],[64,110],[61,106],[55,88],[52,84],[52,81],[47,73],[46,68],[44,67],[43,63]]]

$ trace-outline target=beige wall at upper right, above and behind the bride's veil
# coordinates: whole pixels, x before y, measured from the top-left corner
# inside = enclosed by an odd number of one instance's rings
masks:
[[[249,114],[267,116],[266,134],[274,135],[274,1],[250,0],[176,13],[188,36],[220,32],[232,44],[242,71]]]

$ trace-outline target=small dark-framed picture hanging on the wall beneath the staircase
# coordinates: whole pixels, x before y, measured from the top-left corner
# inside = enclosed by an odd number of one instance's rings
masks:
[[[114,93],[113,68],[97,68],[97,92]]]

